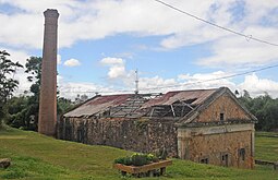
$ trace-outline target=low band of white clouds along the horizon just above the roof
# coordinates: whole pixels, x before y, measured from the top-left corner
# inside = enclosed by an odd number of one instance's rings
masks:
[[[153,77],[140,77],[138,87],[140,93],[167,93],[169,91],[206,89],[227,86],[232,92],[238,89],[241,94],[243,89],[246,89],[253,97],[264,95],[265,92],[274,98],[278,97],[278,82],[259,79],[256,74],[245,75],[244,82],[238,84],[233,83],[232,79],[214,80],[227,75],[230,74],[222,71],[216,71],[203,74],[180,74],[173,79],[162,79],[157,75]],[[134,74],[130,73],[122,79],[118,79],[124,84],[121,88],[117,88],[114,84],[106,86],[86,82],[64,82],[62,77],[58,77],[58,87],[60,96],[71,99],[74,99],[77,94],[86,94],[87,96],[93,97],[96,93],[102,95],[133,93],[135,91],[135,79],[133,77]]]

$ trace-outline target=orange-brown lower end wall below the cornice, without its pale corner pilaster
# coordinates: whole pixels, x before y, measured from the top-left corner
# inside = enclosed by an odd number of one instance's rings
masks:
[[[207,158],[213,165],[253,168],[251,142],[252,131],[192,136],[190,159],[201,163]],[[222,157],[226,154],[228,159]]]

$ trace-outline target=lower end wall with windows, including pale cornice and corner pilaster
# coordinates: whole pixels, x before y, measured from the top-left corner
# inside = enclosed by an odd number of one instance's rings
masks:
[[[179,129],[178,149],[182,159],[253,168],[254,125],[229,124]]]

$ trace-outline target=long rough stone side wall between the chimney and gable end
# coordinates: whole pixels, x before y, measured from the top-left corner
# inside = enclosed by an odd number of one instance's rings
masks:
[[[178,141],[173,123],[173,120],[63,118],[58,123],[58,139],[141,153],[166,148],[176,157]]]

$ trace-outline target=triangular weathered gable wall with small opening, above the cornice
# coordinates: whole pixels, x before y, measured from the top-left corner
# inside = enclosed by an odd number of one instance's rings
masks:
[[[247,113],[230,96],[223,95],[208,106],[194,121],[220,121],[220,113],[223,113],[223,121],[250,119]]]

